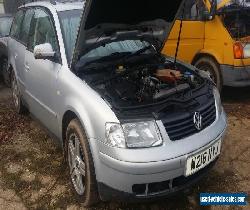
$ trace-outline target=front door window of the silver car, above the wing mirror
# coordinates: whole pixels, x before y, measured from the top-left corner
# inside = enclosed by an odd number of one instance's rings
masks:
[[[28,48],[34,50],[36,45],[50,43],[55,52],[59,52],[56,31],[50,16],[42,9],[36,9],[31,22]]]

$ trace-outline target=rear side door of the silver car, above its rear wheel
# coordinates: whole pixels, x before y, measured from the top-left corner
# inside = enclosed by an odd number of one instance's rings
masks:
[[[21,30],[24,18],[25,10],[19,10],[13,20],[13,24],[10,31],[11,39],[8,42],[8,49],[10,50],[10,60],[13,66],[18,83],[20,85],[21,92],[24,92],[24,57],[25,57],[25,44],[21,41]]]

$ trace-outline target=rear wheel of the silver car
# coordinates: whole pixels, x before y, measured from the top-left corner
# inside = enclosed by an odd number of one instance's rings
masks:
[[[27,108],[24,106],[21,98],[20,89],[17,84],[15,73],[11,74],[11,90],[12,99],[14,102],[15,110],[18,114],[26,114],[28,112]]]

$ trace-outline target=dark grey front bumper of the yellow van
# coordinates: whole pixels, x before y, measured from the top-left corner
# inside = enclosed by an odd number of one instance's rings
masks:
[[[250,66],[236,67],[221,65],[220,69],[223,85],[231,87],[250,86]]]

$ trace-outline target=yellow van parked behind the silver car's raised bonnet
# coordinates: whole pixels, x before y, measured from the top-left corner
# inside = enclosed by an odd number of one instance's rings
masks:
[[[250,85],[249,0],[233,2],[186,0],[163,48],[174,57],[181,32],[177,58],[209,72],[219,89]]]

